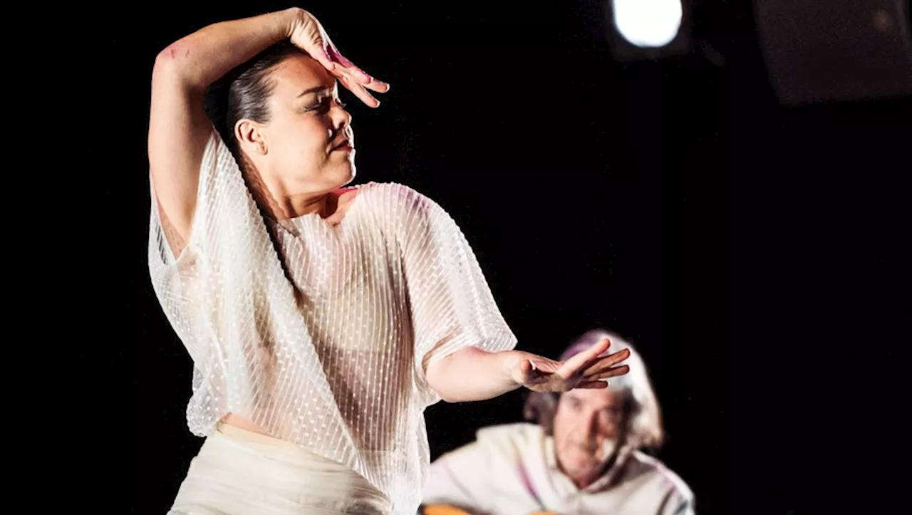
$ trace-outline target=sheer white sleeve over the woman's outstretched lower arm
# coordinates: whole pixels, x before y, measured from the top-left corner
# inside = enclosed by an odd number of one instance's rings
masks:
[[[416,191],[406,197],[402,252],[415,336],[416,382],[428,404],[440,397],[425,380],[427,366],[464,347],[512,349],[503,319],[472,247],[440,205]]]

